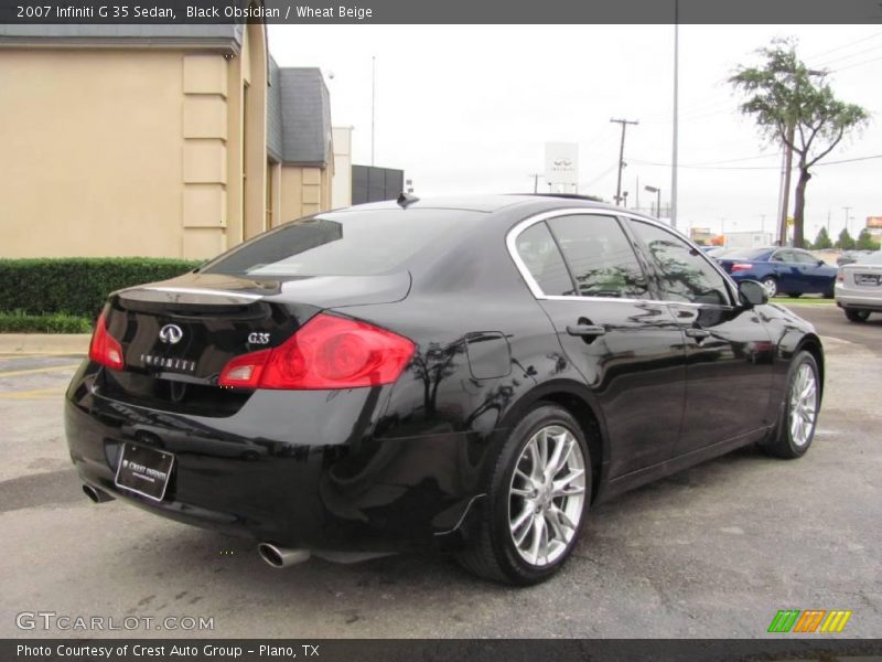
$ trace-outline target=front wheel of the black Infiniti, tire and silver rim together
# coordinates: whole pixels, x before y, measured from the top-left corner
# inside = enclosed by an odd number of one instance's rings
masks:
[[[781,409],[775,430],[760,448],[778,458],[800,458],[815,438],[820,409],[820,371],[815,357],[806,351],[790,362]]]

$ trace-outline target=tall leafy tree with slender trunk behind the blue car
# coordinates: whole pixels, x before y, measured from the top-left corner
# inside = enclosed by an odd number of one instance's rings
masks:
[[[757,52],[764,57],[763,65],[736,70],[729,83],[745,95],[741,113],[753,117],[761,135],[797,157],[793,243],[802,247],[811,168],[851,130],[864,126],[869,115],[858,105],[837,99],[825,82],[827,72],[809,70],[797,57],[794,40],[775,40]],[[815,84],[813,77],[820,82]]]

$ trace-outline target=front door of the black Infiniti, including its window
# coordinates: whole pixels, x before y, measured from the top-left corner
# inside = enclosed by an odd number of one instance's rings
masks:
[[[736,303],[720,269],[679,235],[639,220],[630,227],[686,337],[686,408],[675,456],[771,425],[774,348],[760,313]]]

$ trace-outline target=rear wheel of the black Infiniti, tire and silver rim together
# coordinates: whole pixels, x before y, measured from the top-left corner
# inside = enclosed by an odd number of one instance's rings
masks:
[[[566,409],[541,404],[515,426],[490,476],[476,541],[459,556],[470,572],[527,586],[569,557],[591,499],[591,458]]]

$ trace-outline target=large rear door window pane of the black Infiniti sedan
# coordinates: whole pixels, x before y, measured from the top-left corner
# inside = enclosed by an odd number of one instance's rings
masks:
[[[634,248],[613,216],[574,214],[548,225],[572,271],[579,295],[648,299],[649,291]]]

